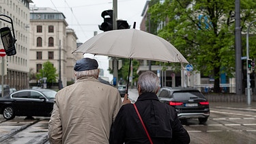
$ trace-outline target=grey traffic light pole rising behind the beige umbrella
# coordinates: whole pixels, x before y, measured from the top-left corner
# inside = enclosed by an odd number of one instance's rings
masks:
[[[113,30],[117,29],[117,0],[113,0]],[[118,71],[117,71],[117,58],[113,57],[113,77],[116,79],[118,85]],[[128,82],[127,82],[128,83]]]

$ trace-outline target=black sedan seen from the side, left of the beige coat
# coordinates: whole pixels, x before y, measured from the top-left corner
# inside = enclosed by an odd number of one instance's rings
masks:
[[[5,119],[15,116],[50,117],[57,92],[51,89],[23,89],[0,98],[0,114]]]

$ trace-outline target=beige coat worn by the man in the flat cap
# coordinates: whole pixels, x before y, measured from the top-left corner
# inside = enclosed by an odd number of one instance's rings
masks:
[[[122,99],[118,90],[83,77],[57,92],[48,125],[50,143],[109,143]]]

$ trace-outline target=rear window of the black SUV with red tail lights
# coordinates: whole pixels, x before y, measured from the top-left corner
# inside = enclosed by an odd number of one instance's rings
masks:
[[[203,94],[199,91],[175,91],[173,98],[175,100],[188,100],[190,98],[203,98]]]

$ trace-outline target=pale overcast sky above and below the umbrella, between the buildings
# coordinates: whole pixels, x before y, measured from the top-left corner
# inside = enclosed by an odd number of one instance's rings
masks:
[[[66,16],[68,27],[74,29],[78,42],[85,42],[94,36],[94,31],[102,33],[98,25],[103,23],[101,13],[104,10],[113,10],[113,0],[32,0],[36,7],[48,7],[62,12]],[[142,11],[147,0],[117,0],[117,19],[127,20],[133,27],[139,29],[142,20]],[[104,70],[104,76],[113,80],[113,75],[106,70],[109,67],[108,57],[85,55],[98,61],[99,68]]]

